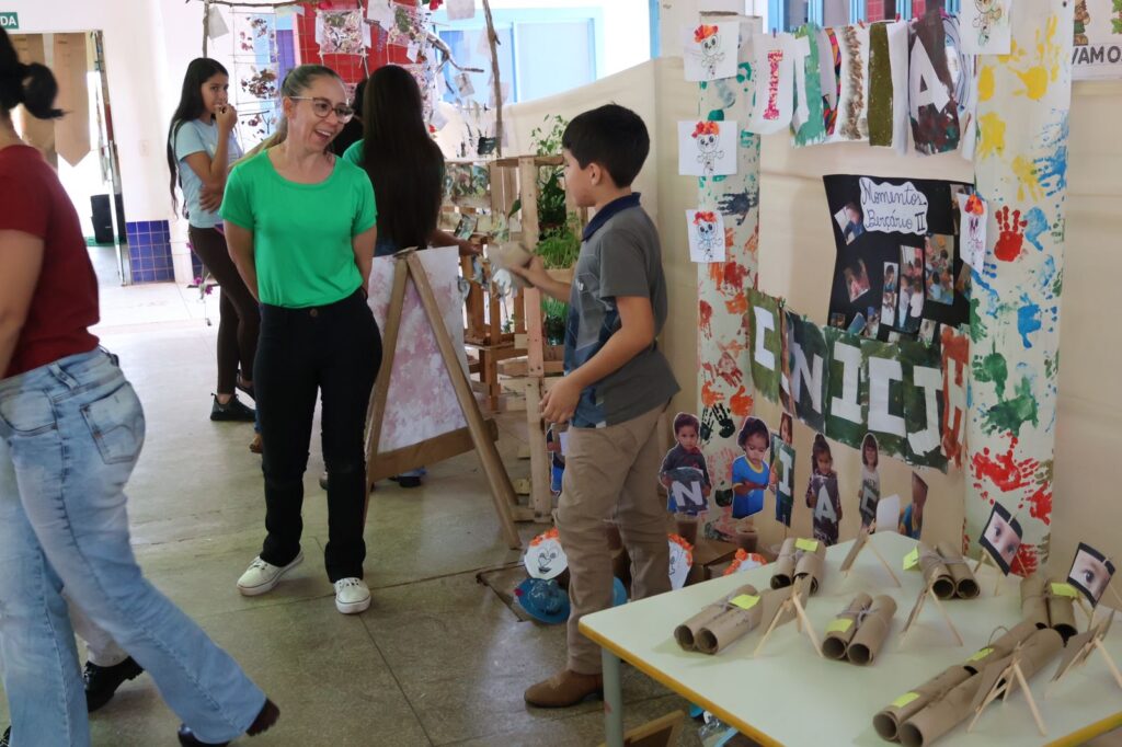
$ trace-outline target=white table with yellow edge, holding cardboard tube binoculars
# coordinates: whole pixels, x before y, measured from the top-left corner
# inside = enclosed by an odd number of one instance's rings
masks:
[[[752,658],[752,652],[763,635],[763,626],[716,656],[684,652],[674,643],[675,626],[738,585],[752,583],[766,589],[771,565],[585,617],[581,631],[604,649],[608,746],[623,745],[620,658],[763,745],[888,745],[873,729],[873,714],[947,666],[966,661],[990,640],[996,626],[1020,621],[1020,580],[1004,579],[1001,593],[994,597],[997,572],[985,565],[978,578],[980,598],[942,602],[966,646],[957,645],[929,601],[900,648],[900,631],[922,587],[919,571],[900,570],[903,556],[916,542],[893,533],[876,534],[870,541],[892,564],[903,588],[892,583],[868,548],[862,551],[849,577],[843,577],[838,568],[852,544],[846,542],[827,552],[826,578],[807,607],[820,638],[829,621],[858,591],[893,597],[899,609],[892,631],[870,666],[820,658],[794,622],[776,628],[758,658]],[[1076,619],[1080,629],[1086,627],[1086,618],[1078,611]],[[1122,664],[1122,621],[1112,626],[1106,645]],[[1098,654],[1069,673],[1045,699],[1055,670],[1049,664],[1030,682],[1048,727],[1047,737],[1037,731],[1018,691],[1006,704],[986,709],[973,732],[966,734],[963,723],[939,744],[1078,745],[1122,726],[1122,689]]]

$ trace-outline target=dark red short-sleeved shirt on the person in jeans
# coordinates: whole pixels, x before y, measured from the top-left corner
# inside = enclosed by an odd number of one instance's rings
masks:
[[[43,239],[43,269],[3,378],[93,350],[98,277],[58,175],[30,146],[0,149],[0,231]],[[2,250],[2,248],[0,248]]]

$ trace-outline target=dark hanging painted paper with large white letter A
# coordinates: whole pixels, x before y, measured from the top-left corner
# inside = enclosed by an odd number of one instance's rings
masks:
[[[958,147],[958,104],[947,66],[942,18],[936,10],[912,26],[909,67],[912,139],[923,155]]]

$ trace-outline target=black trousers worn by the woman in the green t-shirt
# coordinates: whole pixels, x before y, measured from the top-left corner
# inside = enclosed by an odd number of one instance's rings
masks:
[[[265,446],[265,562],[287,565],[300,554],[303,478],[319,390],[323,460],[331,474],[324,564],[332,582],[362,578],[364,432],[380,365],[381,334],[360,290],[329,306],[261,306],[255,394]]]

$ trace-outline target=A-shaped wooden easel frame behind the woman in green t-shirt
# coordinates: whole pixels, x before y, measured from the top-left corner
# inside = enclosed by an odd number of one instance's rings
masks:
[[[381,440],[381,421],[386,412],[386,400],[389,396],[389,379],[394,370],[394,356],[397,350],[397,331],[401,328],[402,313],[405,306],[405,288],[407,280],[412,278],[413,285],[421,297],[421,305],[424,307],[425,316],[432,326],[436,344],[440,347],[441,358],[444,359],[444,369],[456,389],[456,399],[463,412],[463,418],[468,426],[451,433],[429,439],[422,443],[397,449],[386,454],[378,454],[378,444]],[[491,500],[495,504],[495,513],[498,516],[503,536],[512,550],[521,550],[522,541],[518,532],[514,527],[514,514],[517,508],[517,497],[514,487],[511,485],[511,477],[499,459],[498,450],[495,448],[497,428],[494,421],[485,421],[479,412],[479,404],[471,393],[471,384],[463,374],[460,359],[452,344],[452,339],[444,329],[444,321],[436,303],[436,296],[429,284],[429,275],[416,255],[416,250],[407,249],[396,256],[394,266],[394,285],[389,296],[389,312],[384,330],[381,369],[374,387],[374,395],[370,397],[370,407],[367,412],[367,448],[366,448],[366,478],[367,485],[374,486],[379,477],[388,477],[398,472],[414,469],[421,464],[431,464],[457,454],[475,449],[479,454],[487,481],[490,483]]]

